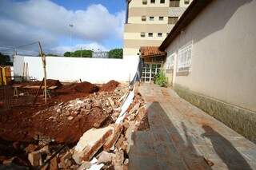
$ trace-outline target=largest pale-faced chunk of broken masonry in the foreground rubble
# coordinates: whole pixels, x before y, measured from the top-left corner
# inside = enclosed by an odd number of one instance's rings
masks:
[[[78,144],[74,147],[73,159],[77,164],[81,164],[82,160],[88,161],[90,160],[98,149],[105,144],[108,137],[114,131],[113,127],[106,128],[91,128],[86,131]]]

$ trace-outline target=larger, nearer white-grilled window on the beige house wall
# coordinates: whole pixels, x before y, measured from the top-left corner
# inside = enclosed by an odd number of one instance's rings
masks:
[[[184,45],[181,49],[178,49],[178,73],[191,71],[192,45],[193,42],[189,42],[188,44]]]

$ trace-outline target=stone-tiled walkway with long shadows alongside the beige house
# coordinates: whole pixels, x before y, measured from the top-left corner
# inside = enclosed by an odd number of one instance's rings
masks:
[[[142,84],[139,92],[150,130],[134,133],[129,169],[256,169],[256,144],[172,89]]]

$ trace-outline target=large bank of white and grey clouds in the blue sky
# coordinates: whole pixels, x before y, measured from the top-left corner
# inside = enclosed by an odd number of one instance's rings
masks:
[[[122,38],[124,18],[124,11],[110,14],[101,4],[74,11],[50,0],[1,0],[0,45],[20,45],[40,40],[46,48],[54,49],[59,38],[69,36],[71,23],[74,25],[73,38],[92,42],[86,45],[97,46],[106,39]]]

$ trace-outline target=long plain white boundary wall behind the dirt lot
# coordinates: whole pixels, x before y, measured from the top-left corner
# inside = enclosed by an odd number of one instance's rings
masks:
[[[23,63],[28,63],[28,76],[43,78],[41,57],[15,56],[14,76],[22,76]],[[124,59],[85,57],[46,57],[47,79],[59,81],[90,81],[105,83],[110,80],[131,81],[138,67],[138,57]]]

